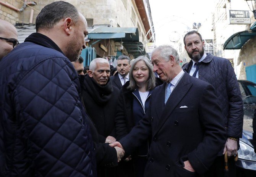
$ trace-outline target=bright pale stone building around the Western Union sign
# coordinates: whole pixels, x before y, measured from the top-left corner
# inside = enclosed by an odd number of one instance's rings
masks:
[[[224,50],[224,43],[234,33],[249,30],[256,19],[254,19],[253,13],[250,12],[251,24],[230,24],[229,10],[250,10],[246,1],[215,0],[214,7],[215,10],[211,16],[201,22],[201,27],[194,30],[198,30],[203,39],[212,39],[214,55],[232,61],[237,78],[239,80],[247,80],[246,67],[256,64],[256,37],[248,40],[241,49]],[[184,49],[183,38],[178,43],[181,45],[181,59],[183,62],[190,61]]]

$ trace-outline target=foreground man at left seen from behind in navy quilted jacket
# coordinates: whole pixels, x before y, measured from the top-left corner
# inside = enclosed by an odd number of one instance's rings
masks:
[[[36,33],[0,65],[0,176],[95,177],[76,70],[87,23],[70,3],[45,6]]]

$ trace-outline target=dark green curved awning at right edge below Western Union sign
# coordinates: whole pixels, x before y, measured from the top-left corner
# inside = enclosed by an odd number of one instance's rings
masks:
[[[225,49],[241,49],[242,46],[251,38],[256,36],[256,22],[251,26],[250,30],[240,31],[228,38],[224,43]]]

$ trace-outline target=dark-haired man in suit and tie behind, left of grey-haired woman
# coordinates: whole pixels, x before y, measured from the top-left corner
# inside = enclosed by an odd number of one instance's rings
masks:
[[[129,80],[130,58],[126,55],[120,55],[117,58],[117,72],[118,74],[111,76],[112,85],[121,89],[122,86]]]

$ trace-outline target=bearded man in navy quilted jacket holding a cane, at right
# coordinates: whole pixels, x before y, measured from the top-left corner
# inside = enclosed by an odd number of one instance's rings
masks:
[[[200,33],[190,31],[186,33],[183,41],[188,56],[192,60],[184,64],[182,69],[191,76],[214,86],[227,130],[224,149],[219,152],[206,176],[224,176],[224,154],[226,152],[230,157],[228,160],[229,176],[236,176],[234,157],[237,155],[239,138],[242,137],[243,100],[234,69],[227,59],[204,53],[204,41]]]

